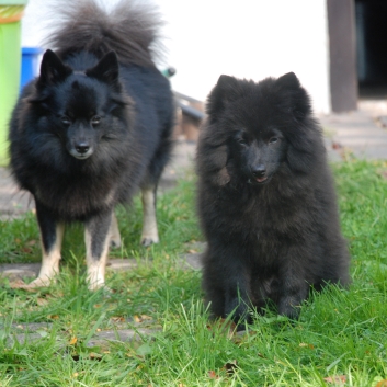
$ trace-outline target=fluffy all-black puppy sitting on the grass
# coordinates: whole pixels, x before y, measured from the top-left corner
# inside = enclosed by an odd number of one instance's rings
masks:
[[[309,288],[350,282],[335,193],[310,100],[291,72],[221,76],[198,140],[203,287],[214,316],[274,301],[296,318]]]

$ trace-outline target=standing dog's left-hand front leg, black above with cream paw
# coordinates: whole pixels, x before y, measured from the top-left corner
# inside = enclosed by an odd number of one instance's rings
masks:
[[[36,217],[41,228],[42,266],[36,280],[27,287],[49,285],[55,274],[59,273],[60,248],[65,226],[54,219],[50,212],[36,201]]]

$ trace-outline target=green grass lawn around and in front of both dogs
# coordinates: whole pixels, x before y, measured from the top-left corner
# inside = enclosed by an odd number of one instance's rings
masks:
[[[387,378],[387,163],[354,160],[335,164],[334,173],[353,258],[349,291],[315,294],[294,323],[269,311],[241,335],[227,321],[209,326],[201,274],[182,270],[178,259],[201,240],[190,178],[159,198],[158,246],[138,246],[138,200],[134,210],[118,212],[124,247],[112,255],[135,257],[138,268],[110,273],[112,294],[87,289],[80,227],[66,234],[55,286],[31,293],[3,280],[0,386],[333,386],[344,379],[341,386],[375,387]],[[32,214],[0,223],[0,232],[1,262],[39,261]],[[49,328],[37,329],[38,340],[14,342],[31,322]],[[133,326],[157,333],[87,345],[95,331]]]

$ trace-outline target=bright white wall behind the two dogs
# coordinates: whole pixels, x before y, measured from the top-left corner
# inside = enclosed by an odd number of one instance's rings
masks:
[[[37,15],[47,3],[30,0],[23,20],[24,45],[35,45],[45,35]],[[315,110],[330,112],[326,0],[153,3],[168,22],[164,65],[177,68],[174,90],[204,100],[221,73],[260,80],[294,71],[311,94]]]

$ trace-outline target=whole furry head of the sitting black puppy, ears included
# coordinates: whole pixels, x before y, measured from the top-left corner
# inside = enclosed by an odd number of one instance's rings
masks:
[[[285,164],[305,171],[308,143],[319,136],[305,124],[310,112],[294,73],[258,83],[221,76],[207,101],[200,170],[213,173],[216,185],[239,181],[254,186],[268,184]]]

